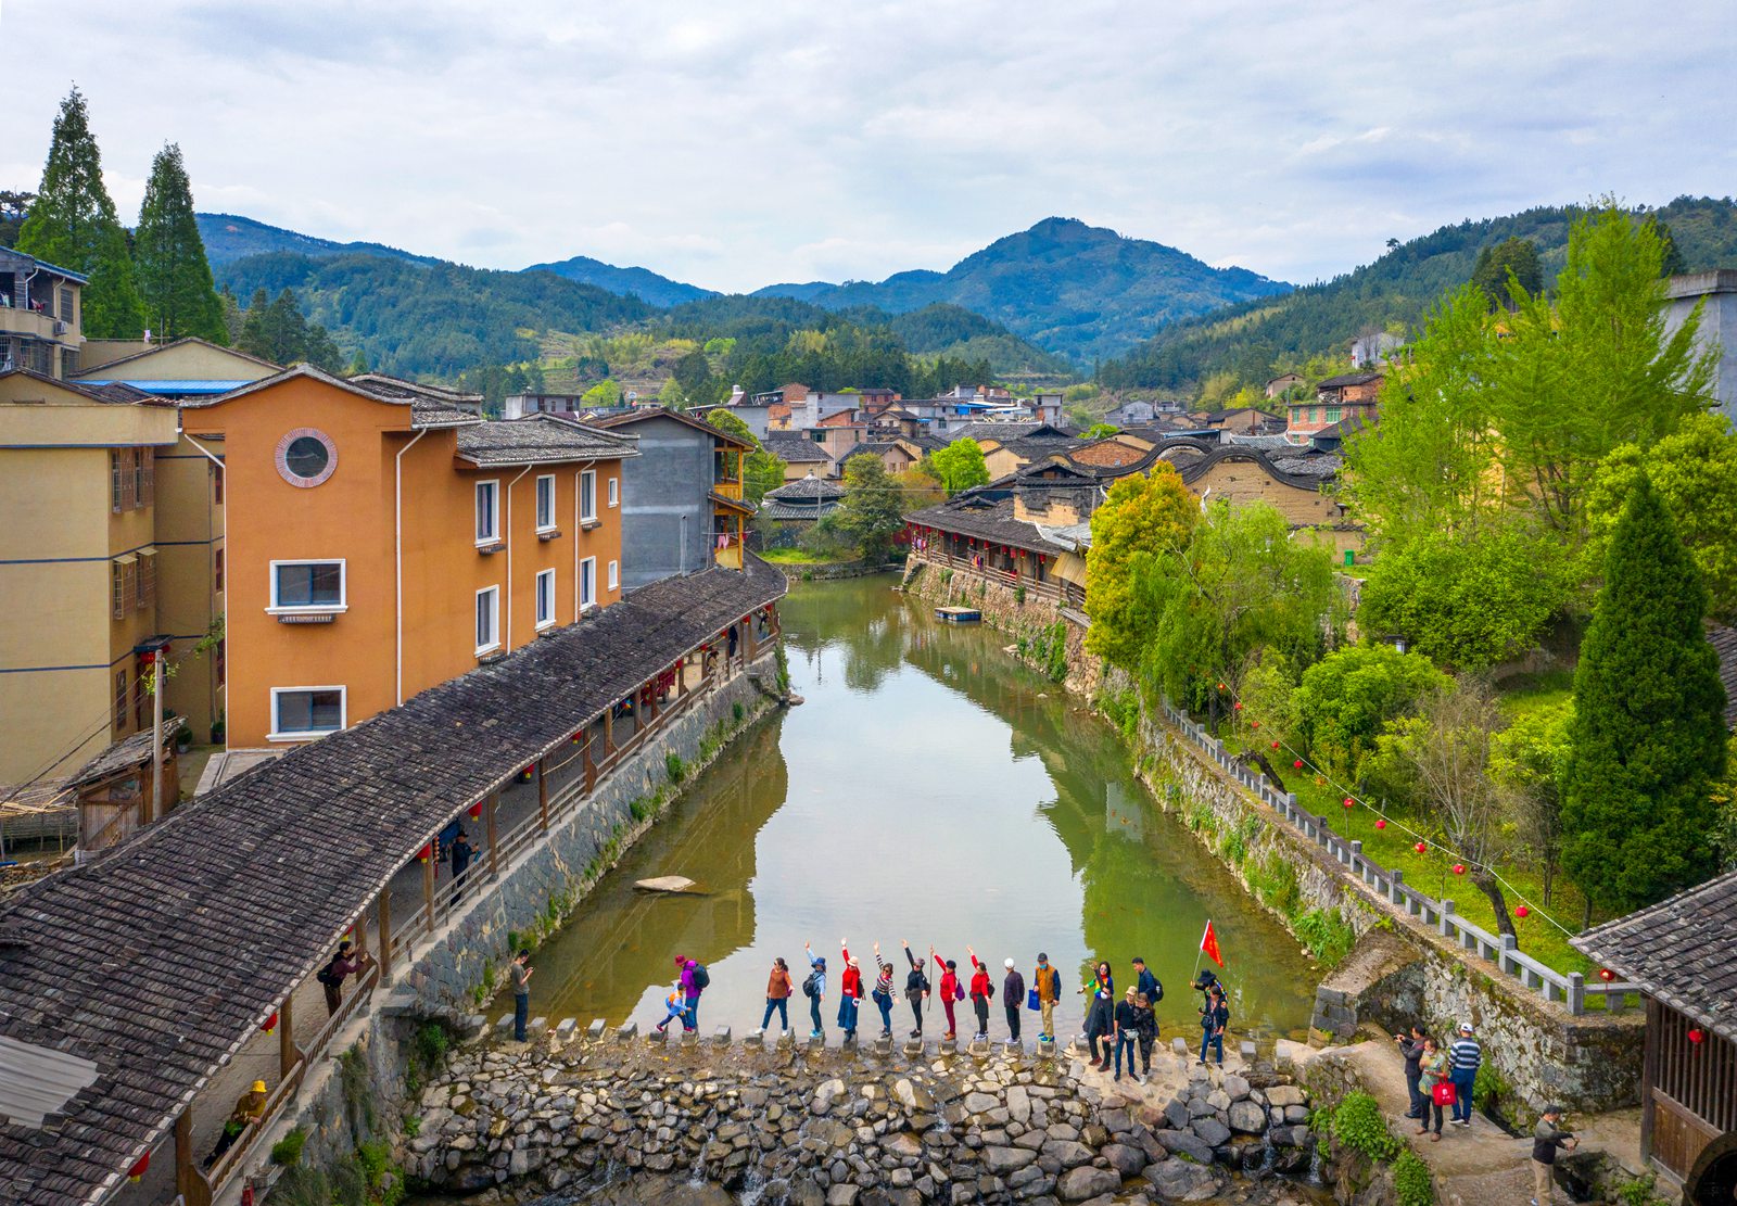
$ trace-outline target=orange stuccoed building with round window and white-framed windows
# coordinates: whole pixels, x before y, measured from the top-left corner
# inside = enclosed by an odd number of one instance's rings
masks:
[[[620,598],[636,440],[299,365],[182,407],[222,464],[226,742],[353,726]]]

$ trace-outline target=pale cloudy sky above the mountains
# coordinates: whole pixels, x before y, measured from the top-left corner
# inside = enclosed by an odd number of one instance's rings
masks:
[[[1737,9],[1556,0],[0,0],[0,188],[90,103],[135,221],[719,290],[945,269],[1049,215],[1308,282],[1468,217],[1737,193]]]

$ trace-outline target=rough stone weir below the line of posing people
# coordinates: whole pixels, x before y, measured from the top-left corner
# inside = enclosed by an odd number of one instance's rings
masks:
[[[1159,1053],[1141,1088],[1070,1053],[646,1043],[601,1027],[471,1044],[422,1093],[401,1166],[478,1203],[681,1176],[754,1201],[1280,1203],[1308,1102],[1270,1064]]]

